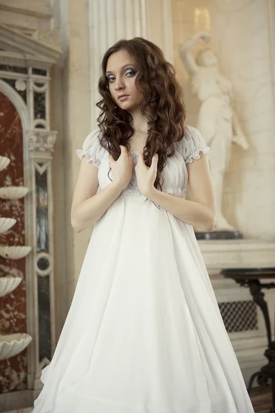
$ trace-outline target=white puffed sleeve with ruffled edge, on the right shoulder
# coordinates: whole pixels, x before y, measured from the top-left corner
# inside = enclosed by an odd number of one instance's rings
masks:
[[[185,163],[192,162],[194,159],[199,159],[200,153],[209,155],[210,147],[206,145],[206,141],[201,136],[201,133],[192,126],[186,126],[184,138],[179,142],[181,156]]]

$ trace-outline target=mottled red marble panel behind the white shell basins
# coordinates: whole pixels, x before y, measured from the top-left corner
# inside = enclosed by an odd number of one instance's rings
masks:
[[[10,158],[10,165],[0,171],[0,187],[24,184],[23,132],[19,114],[10,100],[0,92],[0,155]],[[25,245],[25,200],[0,199],[0,216],[15,218],[17,223],[5,234],[0,234],[1,245]],[[21,284],[10,294],[0,298],[0,333],[27,332],[25,258],[5,260],[0,257],[0,277],[18,275]],[[27,388],[27,350],[0,361],[0,393]]]

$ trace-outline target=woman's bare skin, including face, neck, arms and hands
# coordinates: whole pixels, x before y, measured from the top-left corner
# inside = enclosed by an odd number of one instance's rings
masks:
[[[146,145],[147,121],[141,114],[142,93],[135,86],[137,69],[135,61],[121,50],[111,54],[107,63],[107,78],[109,91],[115,104],[127,110],[133,117],[133,136],[129,140],[130,151],[140,151],[135,174],[137,185],[142,195],[155,202],[160,208],[173,214],[179,220],[186,222],[202,231],[212,231],[215,224],[215,202],[208,159],[203,153],[199,160],[187,164],[192,201],[168,195],[155,189],[157,176],[157,154],[153,156],[151,167],[144,162],[144,146]],[[118,96],[128,95],[126,100]],[[72,201],[71,221],[76,232],[81,232],[93,226],[109,209],[111,204],[128,186],[133,173],[133,159],[126,147],[120,146],[121,154],[118,160],[109,156],[109,164],[113,173],[113,182],[99,193],[98,168],[92,162],[81,160],[78,180]],[[147,201],[148,202],[148,201]]]

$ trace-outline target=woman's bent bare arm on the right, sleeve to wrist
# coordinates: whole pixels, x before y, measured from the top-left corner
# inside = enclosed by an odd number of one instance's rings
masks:
[[[175,215],[179,220],[202,229],[212,231],[215,224],[215,203],[208,158],[201,153],[199,160],[187,164],[192,201],[168,195],[157,189],[146,194],[159,207]]]

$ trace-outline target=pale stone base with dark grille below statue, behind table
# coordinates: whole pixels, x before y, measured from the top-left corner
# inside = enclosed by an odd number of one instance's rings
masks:
[[[251,375],[266,363],[267,347],[265,321],[254,304],[247,288],[221,275],[221,268],[275,266],[275,242],[257,240],[199,240],[211,284],[216,295],[223,322],[239,361],[246,385]],[[272,280],[269,280],[272,282]],[[275,282],[275,279],[274,279]],[[274,308],[271,290],[265,293],[269,308]],[[270,313],[274,325],[274,311]]]

